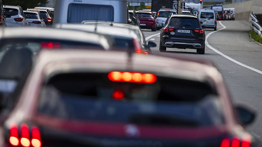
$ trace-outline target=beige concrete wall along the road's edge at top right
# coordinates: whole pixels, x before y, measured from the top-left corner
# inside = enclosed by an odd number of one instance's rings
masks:
[[[262,13],[262,1],[261,0],[250,0],[232,4],[223,5],[223,8],[235,8],[236,20],[250,21],[250,14]]]

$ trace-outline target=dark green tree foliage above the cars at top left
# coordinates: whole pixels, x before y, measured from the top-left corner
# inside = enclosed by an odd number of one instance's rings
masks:
[[[3,5],[20,5],[23,10],[47,4],[48,0],[3,0]]]

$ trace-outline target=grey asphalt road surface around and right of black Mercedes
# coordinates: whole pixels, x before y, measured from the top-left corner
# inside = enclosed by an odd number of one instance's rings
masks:
[[[234,104],[247,105],[257,112],[255,122],[247,129],[262,139],[262,46],[249,38],[249,23],[220,21],[217,30],[206,29],[205,54],[194,49],[167,48],[170,54],[204,58],[212,61],[222,73]],[[147,41],[153,41],[159,52],[160,31],[143,30]],[[210,35],[208,35],[210,33]]]

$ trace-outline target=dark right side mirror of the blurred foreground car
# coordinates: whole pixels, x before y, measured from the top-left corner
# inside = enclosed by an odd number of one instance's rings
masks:
[[[255,112],[251,109],[247,109],[244,106],[235,107],[238,119],[242,125],[249,125],[255,119]]]

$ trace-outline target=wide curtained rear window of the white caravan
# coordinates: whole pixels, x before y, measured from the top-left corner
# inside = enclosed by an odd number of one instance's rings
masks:
[[[67,22],[77,23],[84,20],[114,21],[114,7],[112,5],[69,4]]]

